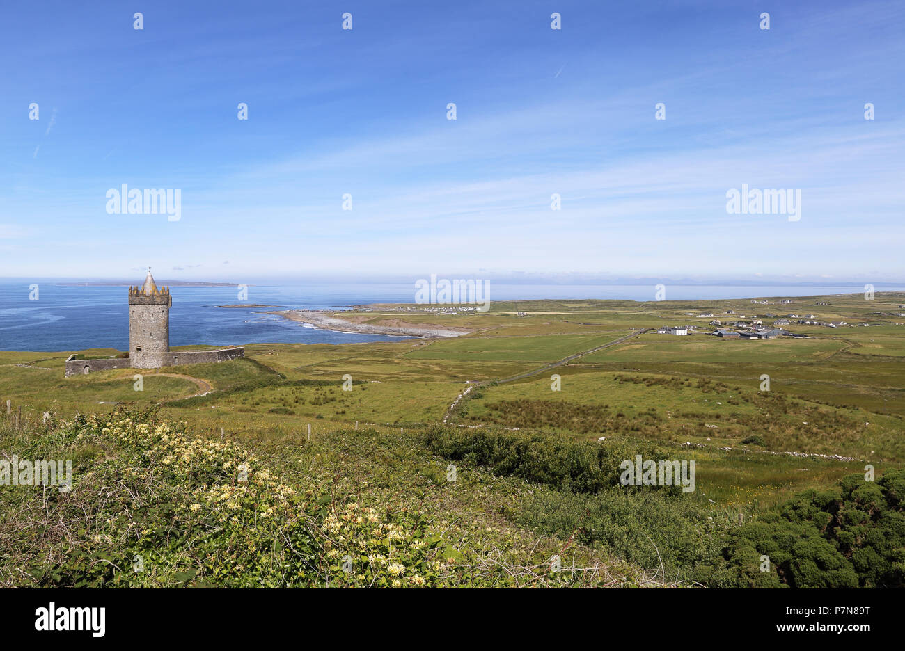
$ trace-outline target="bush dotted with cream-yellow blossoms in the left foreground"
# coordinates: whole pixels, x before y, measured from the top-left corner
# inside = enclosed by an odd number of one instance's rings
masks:
[[[39,585],[421,587],[443,566],[417,519],[300,493],[238,444],[182,424],[89,416],[56,439],[104,454],[55,495],[62,528],[32,559]]]

